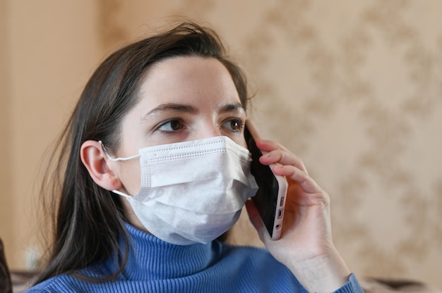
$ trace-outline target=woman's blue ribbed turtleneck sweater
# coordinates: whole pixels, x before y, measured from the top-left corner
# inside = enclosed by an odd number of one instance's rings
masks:
[[[58,275],[28,292],[306,292],[294,275],[265,249],[235,247],[218,241],[174,245],[126,225],[133,247],[116,280],[91,283]],[[110,275],[109,258],[82,273]],[[354,275],[336,292],[363,292]]]

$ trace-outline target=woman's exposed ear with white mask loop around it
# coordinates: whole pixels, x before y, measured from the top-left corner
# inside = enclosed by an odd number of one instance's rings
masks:
[[[95,140],[83,142],[80,157],[83,165],[88,169],[90,177],[97,185],[107,190],[121,188],[121,181],[112,170],[112,166],[109,166],[109,160],[107,160],[100,142],[95,142]]]

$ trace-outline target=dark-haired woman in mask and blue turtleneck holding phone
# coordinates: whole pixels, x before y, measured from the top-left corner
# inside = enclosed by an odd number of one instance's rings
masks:
[[[247,99],[220,39],[193,23],[109,56],[59,144],[54,243],[29,292],[362,292],[333,245],[328,195],[258,140],[289,182],[282,237],[266,234],[247,201]],[[268,250],[216,239],[245,203]]]

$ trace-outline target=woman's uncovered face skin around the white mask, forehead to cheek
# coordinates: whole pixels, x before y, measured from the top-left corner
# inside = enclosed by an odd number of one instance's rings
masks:
[[[246,146],[241,106],[234,82],[215,58],[176,57],[155,64],[145,75],[138,104],[121,125],[118,157],[133,156],[146,146],[225,135]],[[138,159],[112,162],[124,190],[140,189]]]

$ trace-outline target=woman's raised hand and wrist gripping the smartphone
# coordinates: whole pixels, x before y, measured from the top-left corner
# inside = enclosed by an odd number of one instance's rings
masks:
[[[264,165],[289,183],[282,235],[272,241],[252,201],[246,204],[251,222],[270,254],[285,264],[306,289],[333,292],[347,282],[350,271],[333,244],[330,198],[309,176],[304,163],[276,142],[258,139]],[[266,153],[266,154],[265,154]]]

